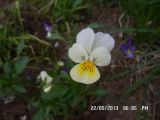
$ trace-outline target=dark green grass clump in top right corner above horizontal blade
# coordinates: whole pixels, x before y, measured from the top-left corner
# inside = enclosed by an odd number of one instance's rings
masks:
[[[149,22],[152,24],[160,17],[160,4],[152,0],[120,0],[120,5],[127,14],[134,17],[138,27],[146,27]]]

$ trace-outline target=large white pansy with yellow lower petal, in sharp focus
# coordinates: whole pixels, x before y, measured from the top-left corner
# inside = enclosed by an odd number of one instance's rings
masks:
[[[110,51],[115,40],[106,33],[94,33],[91,28],[80,31],[76,43],[69,48],[68,56],[75,63],[71,71],[71,78],[80,83],[91,84],[100,78],[96,66],[106,66],[111,62]]]

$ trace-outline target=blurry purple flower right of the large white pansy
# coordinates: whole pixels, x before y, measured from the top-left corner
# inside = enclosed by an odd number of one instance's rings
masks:
[[[128,58],[130,59],[134,58],[135,46],[131,38],[128,38],[127,43],[121,44],[120,49],[124,54],[127,55]]]

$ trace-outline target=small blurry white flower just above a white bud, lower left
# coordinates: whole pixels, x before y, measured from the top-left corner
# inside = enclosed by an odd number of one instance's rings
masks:
[[[41,71],[40,75],[37,78],[41,79],[42,81],[46,81],[46,83],[51,83],[53,80],[53,78],[49,76],[46,71]]]

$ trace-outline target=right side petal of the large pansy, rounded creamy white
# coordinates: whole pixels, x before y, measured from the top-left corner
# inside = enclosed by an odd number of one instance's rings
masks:
[[[90,60],[97,66],[106,66],[111,61],[111,54],[105,47],[99,47],[91,53]]]

